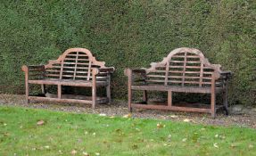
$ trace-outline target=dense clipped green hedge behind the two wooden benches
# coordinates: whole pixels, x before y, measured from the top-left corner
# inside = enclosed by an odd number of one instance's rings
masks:
[[[112,90],[123,98],[125,68],[148,67],[187,46],[234,72],[231,103],[256,100],[254,0],[5,0],[0,19],[1,93],[24,93],[22,64],[85,47],[117,68]]]

